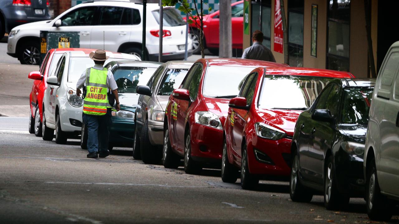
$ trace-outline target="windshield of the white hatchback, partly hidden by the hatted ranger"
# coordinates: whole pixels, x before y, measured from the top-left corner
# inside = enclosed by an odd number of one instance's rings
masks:
[[[107,65],[110,61],[126,61],[128,59],[120,59],[120,58],[109,58],[105,61],[104,65]],[[130,60],[128,60],[130,61]],[[89,57],[70,57],[69,59],[69,73],[68,73],[68,82],[76,83],[81,77],[82,73],[94,66],[93,59]]]

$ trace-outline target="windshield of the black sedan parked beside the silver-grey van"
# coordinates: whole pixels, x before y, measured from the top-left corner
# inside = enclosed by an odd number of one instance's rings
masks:
[[[344,89],[341,122],[344,124],[367,124],[373,88]]]

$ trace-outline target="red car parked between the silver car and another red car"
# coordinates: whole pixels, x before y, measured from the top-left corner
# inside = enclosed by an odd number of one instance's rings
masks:
[[[220,165],[223,125],[229,98],[256,67],[286,65],[247,59],[199,59],[166,106],[162,163],[177,168],[184,156],[186,173],[199,173],[205,163]]]

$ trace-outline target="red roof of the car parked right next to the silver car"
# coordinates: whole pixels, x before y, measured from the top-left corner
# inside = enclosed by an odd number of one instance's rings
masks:
[[[270,61],[259,61],[251,59],[239,59],[239,58],[208,58],[198,59],[197,61],[205,60],[208,66],[236,66],[236,67],[288,67],[288,65],[270,62]]]

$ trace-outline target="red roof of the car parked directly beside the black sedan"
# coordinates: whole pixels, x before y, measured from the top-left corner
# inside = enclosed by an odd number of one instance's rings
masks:
[[[266,68],[266,75],[294,75],[294,76],[318,76],[331,78],[353,78],[351,73],[344,71],[334,71],[328,69],[314,69],[303,67],[280,67]]]

